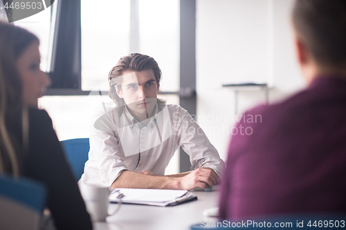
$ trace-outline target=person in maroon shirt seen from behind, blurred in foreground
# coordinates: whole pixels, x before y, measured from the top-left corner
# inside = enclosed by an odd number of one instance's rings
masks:
[[[233,129],[221,219],[346,212],[345,25],[346,1],[295,1],[295,47],[309,86],[244,113]]]

